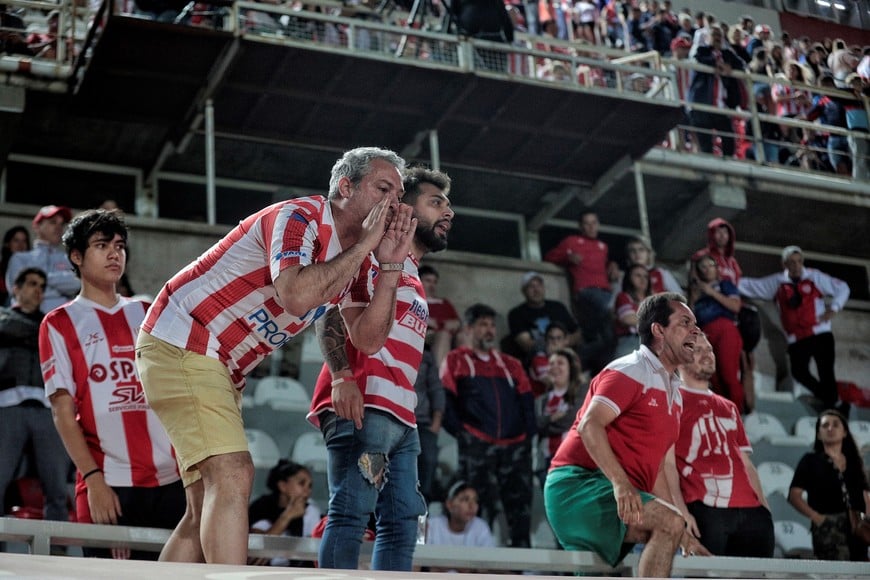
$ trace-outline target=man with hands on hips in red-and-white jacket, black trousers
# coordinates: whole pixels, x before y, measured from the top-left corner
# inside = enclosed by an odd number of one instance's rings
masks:
[[[815,405],[820,406],[817,410],[829,409],[838,396],[831,319],[846,305],[849,286],[815,268],[804,267],[803,251],[798,246],[783,249],[782,264],[782,272],[764,278],[743,278],[738,288],[749,298],[776,303],[788,340],[791,374],[812,391],[817,399]],[[810,360],[816,363],[818,378],[810,373]],[[847,416],[848,408],[847,403],[840,406]]]

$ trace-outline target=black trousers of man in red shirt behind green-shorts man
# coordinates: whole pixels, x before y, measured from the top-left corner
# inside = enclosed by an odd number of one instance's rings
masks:
[[[763,506],[713,508],[694,501],[687,507],[698,523],[701,543],[713,555],[773,557],[773,517]]]

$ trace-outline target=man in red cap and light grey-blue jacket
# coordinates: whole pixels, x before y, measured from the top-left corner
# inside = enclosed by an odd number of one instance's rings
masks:
[[[47,205],[33,218],[35,240],[29,252],[18,252],[9,259],[6,287],[11,288],[18,272],[24,268],[40,268],[48,274],[48,285],[40,310],[48,314],[68,302],[79,291],[80,282],[66,256],[61,236],[72,219],[68,207]]]

